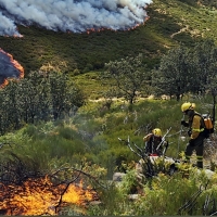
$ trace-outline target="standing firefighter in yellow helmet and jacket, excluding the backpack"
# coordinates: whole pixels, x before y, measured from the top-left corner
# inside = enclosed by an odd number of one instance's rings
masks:
[[[181,125],[189,127],[188,136],[190,140],[186,146],[186,159],[190,163],[193,151],[196,152],[196,165],[203,168],[203,151],[204,151],[204,122],[200,113],[195,112],[195,104],[184,102],[181,105],[181,112],[188,116],[188,122],[181,120]]]

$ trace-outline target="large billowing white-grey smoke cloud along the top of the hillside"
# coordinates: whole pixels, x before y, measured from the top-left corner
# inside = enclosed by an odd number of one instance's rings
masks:
[[[16,25],[52,30],[124,30],[142,24],[152,0],[0,0],[0,35],[21,36]]]

